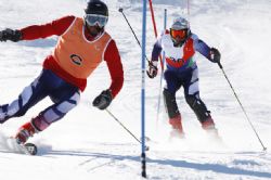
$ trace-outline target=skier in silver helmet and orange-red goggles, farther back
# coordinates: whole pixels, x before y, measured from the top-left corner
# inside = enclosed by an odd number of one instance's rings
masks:
[[[165,30],[158,37],[152,51],[147,75],[154,78],[157,75],[158,56],[165,51],[166,67],[164,78],[164,102],[172,127],[173,134],[182,137],[182,118],[176,102],[176,92],[183,86],[186,103],[194,111],[197,119],[205,130],[215,130],[215,123],[210,112],[199,98],[198,70],[194,60],[195,52],[199,52],[212,63],[220,62],[220,52],[216,48],[209,48],[203,40],[190,29],[190,23],[178,17],[173,21],[169,30]]]

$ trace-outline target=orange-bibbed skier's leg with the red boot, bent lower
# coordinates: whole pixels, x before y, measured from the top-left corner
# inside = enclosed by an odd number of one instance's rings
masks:
[[[37,117],[23,125],[15,138],[18,143],[25,143],[29,137],[39,131],[47,129],[52,123],[63,118],[72,108],[74,108],[80,99],[78,88],[70,88],[69,90],[59,90],[59,98],[54,97],[55,104],[49,106],[41,112]],[[57,99],[57,101],[56,101]]]

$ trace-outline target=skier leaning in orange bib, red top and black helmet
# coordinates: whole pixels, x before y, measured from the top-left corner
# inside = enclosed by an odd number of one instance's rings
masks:
[[[108,21],[107,5],[100,0],[90,0],[85,13],[83,18],[70,15],[44,25],[0,31],[0,41],[14,42],[60,36],[54,51],[43,62],[41,74],[15,101],[0,106],[0,124],[3,124],[12,117],[23,116],[46,97],[50,97],[54,103],[18,129],[14,137],[18,144],[25,144],[29,137],[62,119],[77,105],[87,78],[103,60],[107,64],[112,83],[94,99],[93,106],[106,108],[122,88],[119,52],[104,29]]]

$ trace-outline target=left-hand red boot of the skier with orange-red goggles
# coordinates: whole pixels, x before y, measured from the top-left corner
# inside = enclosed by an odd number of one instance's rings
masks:
[[[178,137],[178,138],[183,138],[184,137],[184,133],[183,133],[183,130],[182,130],[181,115],[177,115],[176,117],[170,118],[169,124],[172,127],[172,130],[170,132],[171,137]]]

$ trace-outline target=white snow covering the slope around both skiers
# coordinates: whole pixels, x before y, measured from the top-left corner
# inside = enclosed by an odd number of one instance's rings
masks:
[[[118,8],[141,40],[142,4],[139,0],[106,0],[109,8],[107,31],[117,41],[125,68],[125,85],[109,106],[139,139],[141,134],[141,49]],[[221,51],[221,63],[249,120],[268,147],[262,152],[221,69],[197,55],[201,97],[211,111],[222,142],[209,139],[185,104],[182,90],[177,99],[182,112],[184,140],[170,139],[167,115],[160,105],[156,120],[160,72],[146,77],[146,152],[147,179],[271,179],[271,1],[269,0],[153,0],[158,30],[163,30],[164,9],[168,25],[177,15],[191,22],[193,33]],[[0,29],[43,24],[63,15],[83,15],[85,0],[0,0]],[[14,100],[25,86],[39,75],[44,57],[57,37],[43,40],[0,43],[1,104]],[[147,56],[155,41],[151,13],[147,12]],[[91,106],[92,100],[109,86],[103,63],[88,81],[81,103],[64,119],[35,136],[38,156],[7,151],[5,137],[51,104],[37,104],[24,117],[0,125],[1,179],[141,179],[141,145],[106,112]]]

